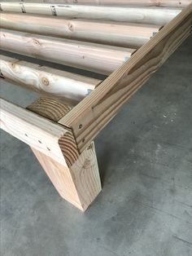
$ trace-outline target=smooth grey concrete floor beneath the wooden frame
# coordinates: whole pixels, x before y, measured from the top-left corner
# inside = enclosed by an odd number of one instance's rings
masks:
[[[10,86],[26,106],[37,95]],[[192,255],[192,37],[95,139],[103,192],[82,214],[1,133],[1,255]]]

